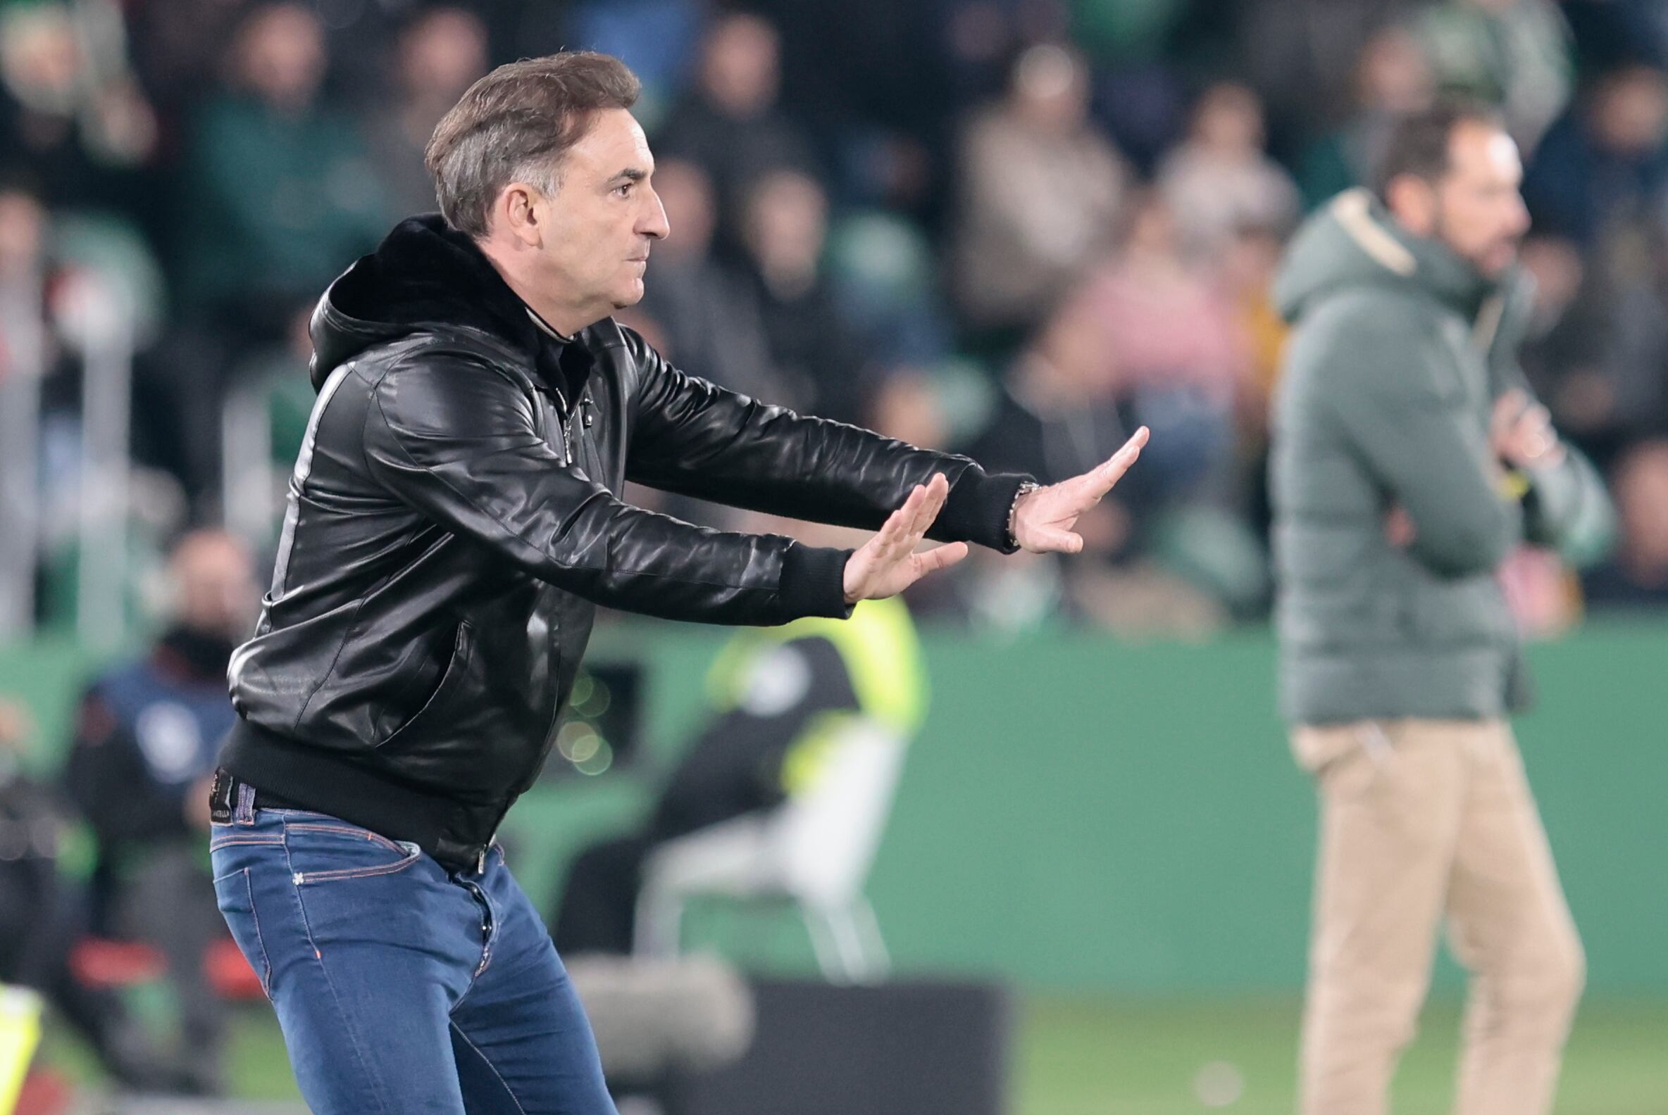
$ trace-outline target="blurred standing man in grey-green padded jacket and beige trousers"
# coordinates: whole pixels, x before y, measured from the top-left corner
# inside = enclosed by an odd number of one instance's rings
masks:
[[[1386,1110],[1443,922],[1471,972],[1460,1115],[1551,1107],[1581,992],[1495,572],[1523,542],[1590,547],[1610,512],[1516,363],[1520,180],[1490,113],[1413,117],[1378,197],[1316,215],[1276,292],[1281,703],[1321,803],[1306,1115]]]

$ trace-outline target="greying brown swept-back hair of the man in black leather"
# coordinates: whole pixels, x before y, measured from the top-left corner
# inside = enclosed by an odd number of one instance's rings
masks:
[[[612,55],[570,50],[500,65],[469,87],[424,148],[445,222],[485,237],[492,203],[512,182],[545,193],[560,162],[604,108],[631,108],[642,83]]]

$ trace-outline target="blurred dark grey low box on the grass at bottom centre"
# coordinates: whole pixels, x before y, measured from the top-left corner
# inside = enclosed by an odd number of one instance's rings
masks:
[[[684,1080],[667,1115],[1002,1115],[1009,998],[994,985],[761,982],[731,1068]]]

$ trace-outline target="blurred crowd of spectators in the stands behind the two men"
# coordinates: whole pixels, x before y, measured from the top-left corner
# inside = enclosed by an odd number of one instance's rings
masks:
[[[1283,243],[1401,113],[1500,105],[1536,222],[1523,358],[1621,515],[1585,583],[1545,558],[1513,583],[1545,628],[1668,603],[1656,0],[5,2],[0,320],[43,332],[0,337],[0,385],[38,357],[43,522],[85,498],[98,275],[132,342],[137,545],[220,522],[270,543],[319,293],[434,208],[422,145],[475,77],[574,47],[644,80],[672,237],[620,318],[681,367],[1042,480],[1153,427],[1086,553],[921,585],[929,618],[1002,632],[1266,612]]]

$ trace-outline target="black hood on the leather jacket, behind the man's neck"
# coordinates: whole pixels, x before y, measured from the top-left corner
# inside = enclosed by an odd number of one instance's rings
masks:
[[[527,353],[539,327],[467,235],[439,213],[402,220],[324,292],[312,315],[314,390],[365,348],[424,325],[477,328]]]

